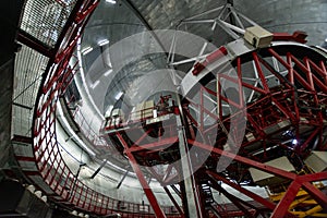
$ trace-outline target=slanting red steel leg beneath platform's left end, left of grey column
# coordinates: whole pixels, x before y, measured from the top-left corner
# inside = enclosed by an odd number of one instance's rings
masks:
[[[125,150],[125,154],[129,157],[130,164],[131,164],[134,172],[137,175],[137,179],[138,179],[140,183],[143,187],[143,191],[144,191],[146,197],[148,198],[148,202],[150,203],[150,205],[152,205],[152,207],[153,207],[153,209],[156,214],[156,217],[166,218],[166,215],[164,214],[164,210],[159,206],[155,194],[150,190],[150,187],[149,187],[147,181],[145,180],[145,177],[144,177],[138,164],[136,162],[136,159],[134,158],[133,154],[129,150],[130,148],[129,148],[126,142],[124,141],[124,138],[122,137],[122,135],[120,133],[117,133],[117,136],[118,136],[120,143],[124,146],[124,150]]]

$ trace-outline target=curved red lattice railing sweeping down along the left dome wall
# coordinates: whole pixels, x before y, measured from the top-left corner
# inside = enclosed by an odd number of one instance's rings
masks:
[[[66,1],[56,0],[48,3],[72,7],[72,4],[63,5],[64,2]],[[29,3],[31,5],[38,5],[43,2],[31,1]],[[56,45],[61,46],[58,47],[56,57],[52,57],[48,62],[46,74],[44,74],[38,96],[35,100],[37,102],[33,125],[35,161],[43,182],[46,182],[53,192],[49,197],[57,202],[73,204],[75,208],[98,215],[120,214],[122,217],[155,217],[152,209],[149,209],[149,205],[121,202],[89,189],[69,169],[58,147],[56,136],[56,109],[58,99],[64,93],[74,73],[77,71],[76,66],[70,68],[69,62],[74,52],[81,31],[97,3],[98,0],[77,0],[71,10],[73,15],[70,15],[70,19],[62,27],[62,33],[58,32],[60,40]],[[35,10],[40,9],[32,9],[33,7],[31,5],[28,4],[29,8],[27,7],[26,14],[36,13],[37,11]],[[31,31],[27,22],[28,17],[26,17],[23,21],[22,28]],[[31,33],[34,32],[31,31]],[[35,35],[35,37],[37,36]],[[38,179],[34,181],[37,183]],[[48,193],[50,192],[48,187],[45,189]],[[144,210],[144,208],[148,209]],[[164,210],[168,217],[180,217],[179,215],[174,215],[171,207],[164,207]]]

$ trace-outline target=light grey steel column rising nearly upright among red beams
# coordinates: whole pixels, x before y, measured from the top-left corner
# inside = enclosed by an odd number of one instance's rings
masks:
[[[187,204],[187,213],[190,218],[203,217],[198,193],[196,192],[195,180],[193,177],[192,164],[187,154],[187,142],[185,138],[184,126],[181,117],[177,116],[179,148],[181,155],[181,169],[184,178],[185,197]]]

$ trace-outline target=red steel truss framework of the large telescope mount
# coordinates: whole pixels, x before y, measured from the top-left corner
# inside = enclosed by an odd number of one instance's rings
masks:
[[[279,68],[284,69],[284,71],[282,73],[278,72],[276,68],[270,64],[269,59],[277,61],[278,64],[280,64]],[[255,84],[246,81],[246,71],[243,70],[243,64],[250,62],[249,60],[251,60],[254,65],[253,70],[257,72],[257,83]],[[259,214],[267,216],[267,211],[270,211],[274,218],[293,217],[294,215],[288,210],[300,189],[305,190],[314,201],[326,210],[326,193],[315,187],[313,182],[326,180],[327,172],[306,172],[305,174],[301,174],[299,173],[301,170],[298,172],[289,172],[264,164],[265,161],[271,160],[272,157],[276,158],[274,153],[278,153],[280,149],[291,152],[291,157],[296,156],[301,159],[305,159],[312,149],[326,150],[326,138],[324,136],[327,118],[325,110],[327,102],[326,59],[320,55],[315,55],[315,51],[308,47],[303,47],[300,44],[291,46],[284,43],[283,46],[254,50],[241,57],[237,57],[232,64],[238,76],[228,75],[219,69],[215,70],[216,76],[214,81],[217,84],[217,88],[203,86],[197,90],[199,93],[199,102],[192,102],[192,100],[186,97],[186,104],[182,106],[183,109],[181,112],[186,118],[185,129],[189,129],[190,133],[186,134],[189,147],[196,146],[203,150],[208,150],[210,153],[210,162],[218,162],[221,157],[232,160],[232,164],[227,167],[223,173],[218,173],[216,166],[211,167],[209,162],[204,164],[199,170],[195,172],[195,178],[197,178],[195,180],[197,182],[196,191],[202,198],[202,216],[207,217],[214,216],[213,214],[215,214],[219,217],[244,215],[247,217],[256,217]],[[278,81],[278,85],[268,85],[268,75]],[[230,98],[226,96],[221,88],[223,80],[239,87],[237,97]],[[257,85],[258,83],[261,85]],[[243,94],[245,89],[254,92],[257,97],[245,102]],[[207,96],[210,96],[211,99],[216,99],[217,107],[219,107],[218,113],[206,108],[204,99]],[[231,119],[231,117],[223,113],[222,108],[223,105],[227,104],[235,108],[237,112],[232,116],[237,117],[237,119]],[[199,108],[199,121],[191,114],[190,106]],[[171,113],[179,116],[178,107],[172,107],[173,109],[170,110]],[[219,122],[216,122],[217,124],[214,125],[205,126],[203,124],[205,123],[205,117],[210,117]],[[140,120],[140,122],[142,123],[143,121]],[[230,130],[233,131],[232,140],[233,142],[241,142],[240,149],[237,154],[225,150],[223,148],[223,145],[226,145],[228,141],[226,129],[232,125],[231,122],[235,122],[235,128]],[[245,125],[244,122],[246,122]],[[280,123],[287,124],[280,125]],[[179,143],[175,122],[166,122],[164,123],[166,126],[150,126],[146,129],[143,134],[138,134],[138,138],[132,140],[129,135],[132,135],[133,132],[140,132],[141,129],[144,128],[144,124],[140,124],[137,125],[138,128],[135,128],[134,123],[130,129],[120,129],[125,128],[125,125],[129,125],[129,123],[122,123],[119,126],[114,126],[113,130],[112,126],[107,126],[105,132],[108,131],[109,137],[116,142],[116,147],[129,157],[153,208],[155,208],[156,216],[165,217],[140,166],[146,166],[164,186],[174,183],[179,174],[182,174],[182,171],[172,165],[168,167],[164,173],[159,173],[155,168],[152,168],[154,165],[172,162],[175,160],[173,156],[179,155],[174,152],[175,144]],[[194,126],[202,133],[201,135],[205,135],[206,138],[202,140],[203,142],[198,142],[198,140],[195,138]],[[276,129],[276,126],[278,128]],[[245,135],[252,136],[245,137],[244,135],[239,135],[238,132],[241,131],[241,128],[243,128],[243,132],[245,131]],[[152,134],[152,132],[160,133],[164,132],[164,129],[165,134],[158,134],[157,141],[148,142],[145,140],[147,134]],[[286,140],[282,138],[283,133],[290,131],[293,133],[292,138],[295,138],[296,142],[301,142],[300,144],[284,142]],[[317,144],[313,148],[314,141],[316,141]],[[215,145],[214,147],[213,144]],[[167,150],[167,146],[171,148],[170,159],[165,159],[159,155],[160,152]],[[276,147],[278,148],[276,149]],[[256,152],[261,155],[256,155],[258,154]],[[195,165],[196,162],[194,162],[193,167],[195,167]],[[246,177],[250,167],[286,179],[288,189],[278,204],[244,189],[239,182],[235,182],[242,181],[242,177]],[[171,173],[172,168],[175,168],[174,173]],[[216,208],[206,208],[205,204],[207,199],[201,187],[203,181],[209,181],[213,189],[229,198],[238,207],[238,213],[226,210],[217,204],[215,205]],[[254,206],[238,196],[227,193],[221,187],[220,182],[254,199],[259,206]],[[183,208],[180,208],[169,190],[165,187],[165,191],[177,206],[181,216],[184,217],[186,206],[184,205]],[[185,196],[181,195],[182,201],[184,197]]]

